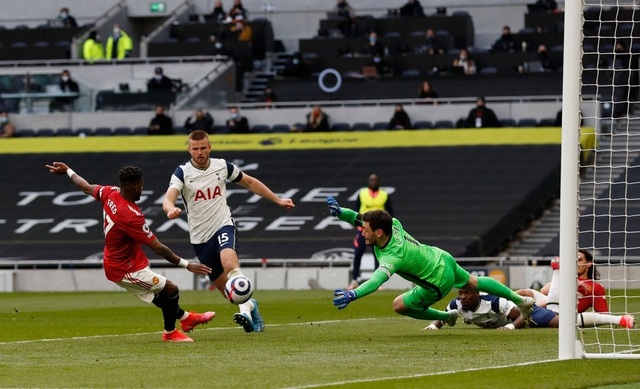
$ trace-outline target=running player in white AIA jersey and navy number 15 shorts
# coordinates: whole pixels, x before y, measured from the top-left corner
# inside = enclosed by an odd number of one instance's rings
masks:
[[[188,151],[191,160],[178,166],[171,176],[162,209],[169,219],[179,217],[182,209],[176,207],[176,201],[182,196],[191,244],[200,262],[213,269],[209,278],[224,296],[227,280],[243,275],[236,251],[236,226],[227,205],[227,180],[285,209],[295,205],[293,200],[280,198],[233,163],[211,158],[211,144],[205,131],[189,134]],[[238,325],[246,332],[264,331],[264,321],[255,299],[240,304],[239,308],[240,312],[233,316]]]

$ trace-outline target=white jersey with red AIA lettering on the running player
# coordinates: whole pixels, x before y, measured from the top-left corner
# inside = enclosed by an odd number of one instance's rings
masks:
[[[191,161],[180,165],[171,176],[170,188],[182,195],[192,244],[206,243],[223,226],[233,225],[227,205],[227,180],[242,178],[240,169],[224,159],[211,158],[208,168]]]

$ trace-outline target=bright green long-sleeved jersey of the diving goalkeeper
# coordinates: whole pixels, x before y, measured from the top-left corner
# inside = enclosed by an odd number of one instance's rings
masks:
[[[348,208],[342,211],[340,219],[355,224],[357,214]],[[370,280],[355,289],[358,298],[375,292],[393,274],[425,289],[439,288],[444,278],[445,257],[450,256],[438,247],[418,242],[396,218],[389,242],[382,248],[374,246],[374,252],[380,266]]]

